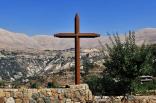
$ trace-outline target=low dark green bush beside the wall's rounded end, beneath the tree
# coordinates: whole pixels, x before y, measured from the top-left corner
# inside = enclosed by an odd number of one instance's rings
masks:
[[[85,78],[93,95],[112,96],[125,95],[130,91],[129,81],[116,81],[110,75],[104,75],[102,78],[90,75]]]

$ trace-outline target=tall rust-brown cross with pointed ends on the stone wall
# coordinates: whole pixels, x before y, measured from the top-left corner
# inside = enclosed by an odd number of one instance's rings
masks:
[[[80,33],[79,15],[75,15],[75,33],[58,33],[54,37],[75,39],[75,84],[80,84],[80,38],[100,37],[96,33]]]

